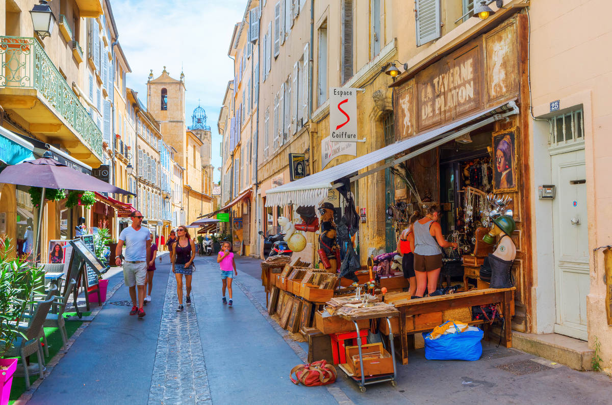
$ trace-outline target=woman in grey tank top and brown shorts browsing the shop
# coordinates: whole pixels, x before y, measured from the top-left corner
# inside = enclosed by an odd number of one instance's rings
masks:
[[[442,251],[440,247],[457,248],[457,243],[447,242],[442,236],[438,223],[440,206],[433,205],[422,219],[414,223],[414,272],[417,277],[415,298],[422,298],[425,288],[428,292],[436,291],[438,278],[442,269]]]

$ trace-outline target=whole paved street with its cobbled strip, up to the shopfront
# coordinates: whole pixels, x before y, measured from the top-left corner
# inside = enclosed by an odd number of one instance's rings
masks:
[[[125,286],[40,384],[30,404],[367,404],[609,403],[612,382],[494,343],[477,362],[425,360],[422,349],[398,365],[398,387],[360,393],[341,372],[335,384],[304,387],[289,370],[305,362],[307,344],[286,337],[264,311],[259,261],[239,258],[234,306],[220,299],[218,265],[198,257],[192,304],[176,312],[176,281],[164,256],[144,319],[129,316]],[[110,288],[122,284],[122,274]],[[508,371],[512,370],[512,371]]]

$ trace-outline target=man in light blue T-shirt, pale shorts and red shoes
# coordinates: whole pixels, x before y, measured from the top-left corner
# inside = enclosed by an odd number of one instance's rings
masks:
[[[125,285],[130,289],[132,310],[130,315],[144,315],[144,295],[146,294],[145,281],[147,277],[147,264],[151,257],[151,232],[144,228],[143,214],[140,211],[132,212],[132,226],[128,226],[119,234],[119,242],[115,255],[115,264],[121,266],[121,249],[125,244],[125,262],[123,264],[123,278]],[[138,301],[136,301],[136,287],[138,287]]]

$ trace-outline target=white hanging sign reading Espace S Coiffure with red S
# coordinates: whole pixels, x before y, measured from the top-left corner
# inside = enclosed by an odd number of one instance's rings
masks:
[[[357,91],[332,87],[329,95],[329,136],[334,142],[357,141]]]

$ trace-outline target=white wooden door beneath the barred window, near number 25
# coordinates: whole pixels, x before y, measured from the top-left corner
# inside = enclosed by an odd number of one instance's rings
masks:
[[[556,292],[554,332],[587,340],[589,238],[584,149],[551,155]]]

